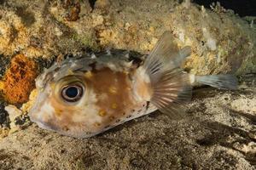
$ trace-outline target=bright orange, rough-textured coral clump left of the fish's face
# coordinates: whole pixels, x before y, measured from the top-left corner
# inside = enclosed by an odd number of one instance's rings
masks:
[[[21,104],[29,99],[35,88],[38,65],[24,54],[17,54],[11,60],[9,69],[3,78],[3,97],[10,104]]]

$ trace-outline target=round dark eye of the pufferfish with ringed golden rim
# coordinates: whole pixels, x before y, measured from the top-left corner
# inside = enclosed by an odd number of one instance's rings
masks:
[[[76,102],[82,98],[83,93],[84,90],[80,85],[67,85],[62,88],[61,97],[62,99],[65,99],[67,102]]]

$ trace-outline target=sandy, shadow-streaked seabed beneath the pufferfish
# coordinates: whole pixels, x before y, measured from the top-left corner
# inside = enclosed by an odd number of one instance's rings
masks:
[[[255,169],[255,90],[197,88],[183,120],[156,111],[90,139],[32,125],[0,140],[1,169]]]

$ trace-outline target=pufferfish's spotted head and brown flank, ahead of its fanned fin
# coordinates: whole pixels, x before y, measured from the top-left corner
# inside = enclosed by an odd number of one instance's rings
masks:
[[[100,59],[67,59],[38,77],[29,116],[39,127],[76,138],[102,133],[137,105],[130,65]]]

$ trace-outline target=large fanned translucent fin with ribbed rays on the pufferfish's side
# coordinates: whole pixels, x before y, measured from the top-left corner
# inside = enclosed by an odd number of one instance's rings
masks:
[[[143,65],[152,88],[150,102],[176,118],[183,116],[183,103],[191,99],[189,75],[178,68],[190,51],[190,47],[179,50],[172,33],[166,31]]]

